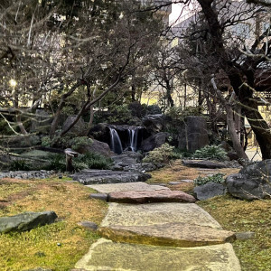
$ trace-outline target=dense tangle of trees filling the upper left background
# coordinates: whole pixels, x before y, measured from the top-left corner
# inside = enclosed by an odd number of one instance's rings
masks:
[[[13,103],[21,134],[27,131],[20,117],[38,105],[51,108],[51,136],[63,107],[69,103],[76,108],[74,122],[61,131],[64,135],[107,93],[122,97],[127,89],[135,92],[144,84],[135,78],[152,65],[161,18],[135,12],[138,9],[133,1],[27,0],[1,5],[1,106]],[[10,85],[11,79],[16,86]]]

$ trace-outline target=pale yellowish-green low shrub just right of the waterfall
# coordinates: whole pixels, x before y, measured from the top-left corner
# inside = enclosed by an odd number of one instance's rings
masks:
[[[173,156],[173,146],[165,143],[161,147],[155,148],[149,152],[143,159],[143,162],[151,162],[154,164],[167,164],[170,158]]]

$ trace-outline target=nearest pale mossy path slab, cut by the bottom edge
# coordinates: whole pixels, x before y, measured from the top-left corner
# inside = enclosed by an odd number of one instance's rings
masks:
[[[95,271],[240,271],[231,244],[171,248],[115,243],[100,238],[75,266]]]

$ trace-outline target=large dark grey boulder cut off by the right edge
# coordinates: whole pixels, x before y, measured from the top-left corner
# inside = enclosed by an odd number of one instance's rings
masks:
[[[226,179],[228,191],[244,200],[265,199],[271,195],[271,159],[249,164]]]

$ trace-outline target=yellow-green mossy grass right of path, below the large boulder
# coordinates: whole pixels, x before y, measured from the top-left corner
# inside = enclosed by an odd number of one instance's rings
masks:
[[[255,238],[233,243],[243,271],[271,270],[271,201],[240,201],[220,196],[198,201],[224,229],[253,231]]]

